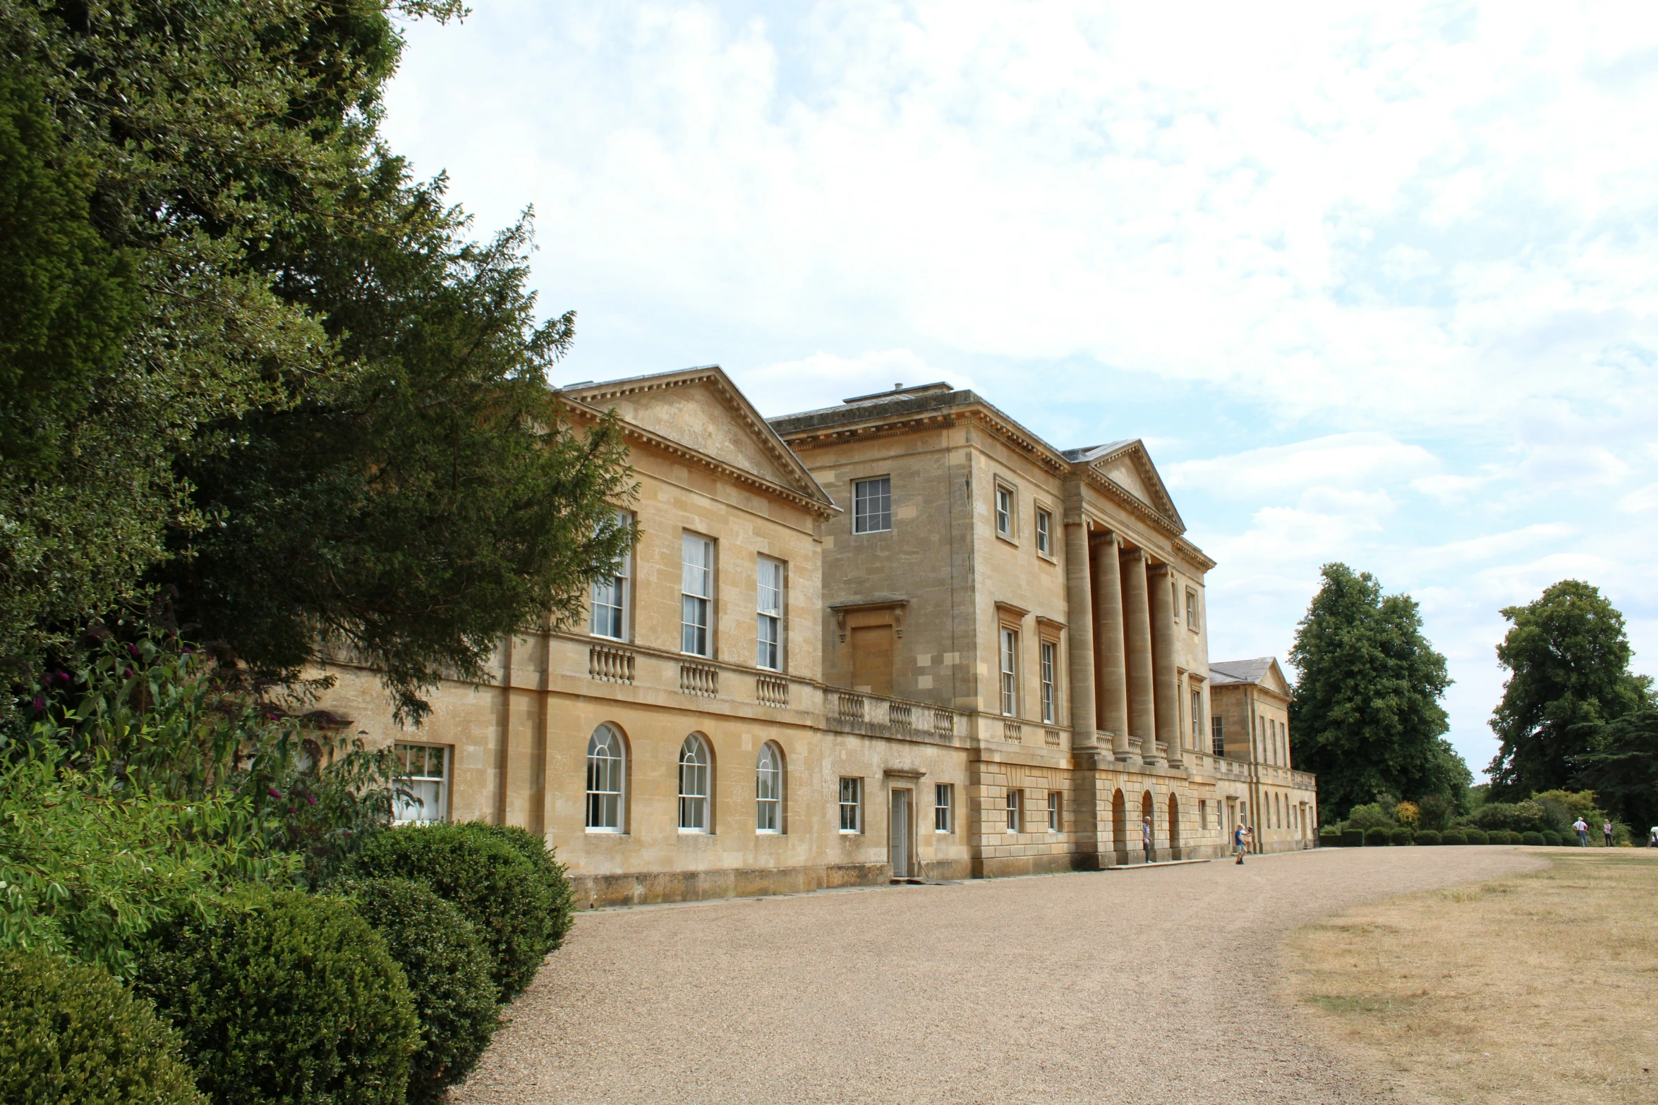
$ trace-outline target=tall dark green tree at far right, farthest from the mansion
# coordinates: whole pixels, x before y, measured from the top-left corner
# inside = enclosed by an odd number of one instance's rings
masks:
[[[1646,704],[1650,679],[1630,674],[1623,615],[1600,590],[1560,580],[1525,606],[1507,606],[1497,663],[1509,671],[1491,727],[1492,799],[1515,802],[1572,782],[1597,727]]]

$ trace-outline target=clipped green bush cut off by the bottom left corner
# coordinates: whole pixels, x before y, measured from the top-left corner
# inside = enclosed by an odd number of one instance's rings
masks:
[[[0,956],[0,1102],[207,1105],[149,1002],[45,951]]]

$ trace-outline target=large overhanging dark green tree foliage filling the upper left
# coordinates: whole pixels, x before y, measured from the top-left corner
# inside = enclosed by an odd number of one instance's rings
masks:
[[[545,388],[574,330],[536,323],[527,217],[473,244],[378,136],[398,18],[459,10],[0,0],[0,204],[51,200],[0,219],[0,424],[41,427],[0,480],[0,661],[171,585],[222,658],[292,678],[332,638],[419,716],[627,547],[615,427]],[[23,373],[41,341],[73,363]]]

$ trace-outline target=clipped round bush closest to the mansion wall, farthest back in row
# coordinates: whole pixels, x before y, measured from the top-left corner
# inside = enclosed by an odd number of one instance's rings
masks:
[[[413,880],[458,908],[489,951],[501,1001],[536,977],[552,931],[552,900],[536,865],[504,840],[476,825],[403,825],[365,843],[356,870]]]

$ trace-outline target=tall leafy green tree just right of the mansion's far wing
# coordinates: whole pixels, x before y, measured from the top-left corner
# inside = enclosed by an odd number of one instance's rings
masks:
[[[1320,820],[1389,795],[1456,800],[1469,772],[1444,741],[1439,699],[1451,679],[1423,636],[1416,601],[1383,595],[1374,577],[1343,563],[1321,575],[1290,649],[1300,673],[1292,754],[1297,769],[1318,774]]]

